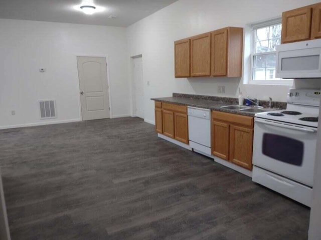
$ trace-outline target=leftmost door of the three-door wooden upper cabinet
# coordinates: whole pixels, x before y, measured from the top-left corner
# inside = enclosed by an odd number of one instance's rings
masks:
[[[175,45],[175,77],[190,76],[190,39],[174,42]]]

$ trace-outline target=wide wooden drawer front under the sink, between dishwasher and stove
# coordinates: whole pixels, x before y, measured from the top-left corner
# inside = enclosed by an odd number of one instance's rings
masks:
[[[231,123],[236,123],[248,127],[253,127],[254,117],[238,115],[234,113],[222,112],[222,111],[212,111],[212,118],[221,121],[228,121]]]

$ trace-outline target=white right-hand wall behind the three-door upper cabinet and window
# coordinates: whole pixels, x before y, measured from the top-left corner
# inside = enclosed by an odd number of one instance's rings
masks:
[[[168,7],[130,25],[127,29],[129,55],[143,55],[145,81],[145,120],[154,121],[150,97],[171,96],[172,92],[237,96],[286,100],[289,86],[243,84],[250,77],[249,40],[245,37],[245,66],[242,78],[196,77],[174,78],[174,41],[225,26],[246,27],[247,24],[281,16],[282,11],[318,2],[318,0],[179,0]],[[247,27],[248,29],[248,27]],[[146,85],[146,81],[150,85]],[[219,94],[218,86],[226,93]]]

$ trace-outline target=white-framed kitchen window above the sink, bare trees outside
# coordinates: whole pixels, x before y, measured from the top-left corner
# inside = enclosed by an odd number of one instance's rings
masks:
[[[250,83],[291,84],[292,79],[275,77],[276,46],[281,43],[281,19],[252,24],[251,54],[252,80]]]

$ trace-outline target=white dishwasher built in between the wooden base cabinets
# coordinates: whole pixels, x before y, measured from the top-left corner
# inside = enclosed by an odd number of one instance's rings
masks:
[[[211,155],[211,110],[189,106],[189,140],[194,151]]]

